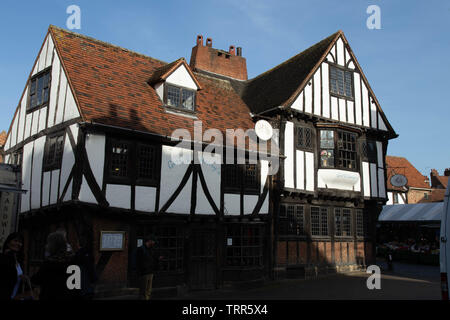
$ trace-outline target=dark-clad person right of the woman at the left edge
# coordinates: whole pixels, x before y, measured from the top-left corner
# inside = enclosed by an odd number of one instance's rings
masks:
[[[67,251],[67,243],[61,233],[54,232],[47,237],[48,257],[31,277],[31,282],[40,286],[40,300],[74,300],[80,298],[77,289],[67,287],[67,268],[75,265],[74,255]]]

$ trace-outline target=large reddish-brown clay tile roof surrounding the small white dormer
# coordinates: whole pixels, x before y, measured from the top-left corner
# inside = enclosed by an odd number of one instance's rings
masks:
[[[156,71],[165,70],[166,62],[54,26],[50,32],[84,121],[164,136],[183,128],[193,137],[195,120],[167,113],[148,84]],[[228,80],[195,77],[202,88],[196,115],[203,130],[254,128],[250,110]]]

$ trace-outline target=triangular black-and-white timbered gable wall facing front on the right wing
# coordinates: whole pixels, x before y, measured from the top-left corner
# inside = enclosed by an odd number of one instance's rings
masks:
[[[352,96],[346,98],[331,93],[330,68],[352,73]],[[332,121],[374,130],[395,132],[386,119],[367,78],[365,77],[344,34],[340,31],[322,58],[305,78],[285,106]]]

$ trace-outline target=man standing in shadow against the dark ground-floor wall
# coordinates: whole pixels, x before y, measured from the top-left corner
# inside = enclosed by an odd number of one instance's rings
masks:
[[[144,244],[137,249],[136,267],[140,277],[141,298],[150,300],[152,293],[153,274],[158,270],[159,257],[155,249],[156,239],[149,236],[144,239]]]

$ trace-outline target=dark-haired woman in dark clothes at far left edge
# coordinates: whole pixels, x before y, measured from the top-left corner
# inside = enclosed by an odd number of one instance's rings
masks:
[[[23,238],[12,233],[6,239],[0,254],[0,300],[12,300],[19,293],[23,275],[22,260]]]

